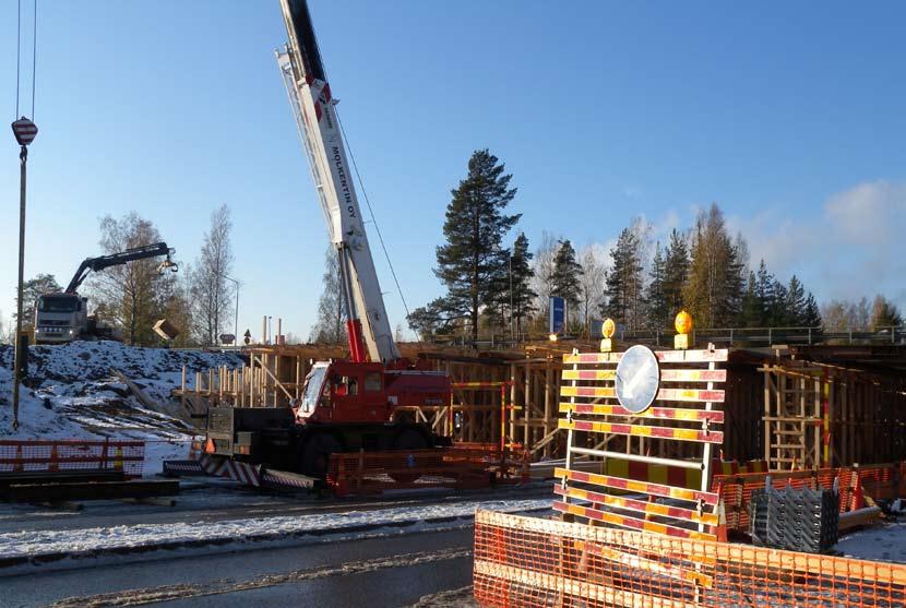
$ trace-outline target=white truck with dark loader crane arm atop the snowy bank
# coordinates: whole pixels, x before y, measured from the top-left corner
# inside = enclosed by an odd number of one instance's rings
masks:
[[[166,258],[157,266],[157,272],[176,272],[178,266],[172,261],[172,253],[174,250],[166,242],[155,242],[110,255],[86,258],[72,275],[64,291],[38,296],[35,302],[35,343],[65,344],[84,337],[114,337],[111,329],[98,326],[96,320],[88,315],[88,298],[79,295],[79,286],[93,272],[160,255]]]

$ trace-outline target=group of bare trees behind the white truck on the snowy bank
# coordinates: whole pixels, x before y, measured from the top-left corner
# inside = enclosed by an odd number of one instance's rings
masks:
[[[229,207],[223,205],[211,214],[210,227],[193,264],[178,262],[178,273],[162,274],[158,272],[160,260],[128,262],[93,273],[80,294],[88,297],[88,311],[98,322],[117,329],[128,344],[160,345],[162,338],[152,329],[160,319],[167,319],[180,331],[171,343],[174,346],[219,344],[220,334],[233,333],[230,320],[236,288],[227,278],[234,263],[231,229]],[[135,212],[122,217],[103,217],[99,233],[100,255],[166,240],[152,220]],[[73,271],[79,262],[73,260]],[[32,329],[38,296],[63,288],[52,274],[38,274],[26,281],[23,329]],[[11,339],[8,334],[14,330],[15,314],[4,336]]]

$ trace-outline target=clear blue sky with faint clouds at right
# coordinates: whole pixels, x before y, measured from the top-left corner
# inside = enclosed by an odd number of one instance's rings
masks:
[[[754,259],[799,274],[819,299],[882,291],[906,306],[906,4],[310,5],[410,307],[441,294],[434,246],[479,147],[513,174],[529,242],[549,231],[607,243],[636,215],[659,235],[715,201]],[[98,217],[133,210],[191,262],[226,203],[240,331],[260,333],[272,314],[308,335],[326,229],[273,56],[286,38],[277,0],[38,10],[26,276],[65,283],[98,251]],[[15,15],[15,2],[0,3],[10,121]],[[19,193],[9,131],[0,192],[9,319]],[[404,321],[375,258],[391,318]]]

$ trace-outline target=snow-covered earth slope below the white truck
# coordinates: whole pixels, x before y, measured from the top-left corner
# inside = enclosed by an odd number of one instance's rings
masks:
[[[229,353],[142,348],[116,342],[73,342],[29,348],[28,380],[12,430],[13,348],[0,346],[0,439],[135,439],[145,443],[145,475],[162,462],[184,458],[194,436],[178,401],[182,367],[193,385],[196,371],[239,367]],[[122,372],[157,405],[142,406],[117,378]]]

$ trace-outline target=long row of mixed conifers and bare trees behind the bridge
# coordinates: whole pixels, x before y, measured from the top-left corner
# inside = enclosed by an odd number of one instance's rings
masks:
[[[751,264],[746,239],[729,234],[716,203],[666,242],[653,240],[652,227],[635,218],[609,250],[593,245],[576,252],[570,239],[544,234],[533,252],[522,231],[504,247],[522,217],[508,212],[517,193],[512,177],[479,150],[452,190],[434,267],[446,293],[408,318],[422,339],[544,333],[551,296],[567,300],[575,334],[587,334],[604,318],[630,331],[669,330],[681,309],[699,327],[713,329],[858,331],[903,323],[881,295],[871,303],[862,298],[819,307],[795,274],[784,281],[764,260]]]

